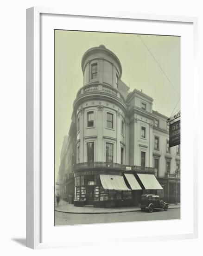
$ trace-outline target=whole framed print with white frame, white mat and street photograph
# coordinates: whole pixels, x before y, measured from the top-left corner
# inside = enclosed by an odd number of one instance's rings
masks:
[[[28,247],[197,237],[196,29],[27,9]]]

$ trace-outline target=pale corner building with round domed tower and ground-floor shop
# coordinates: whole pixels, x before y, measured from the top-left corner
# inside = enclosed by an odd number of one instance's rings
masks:
[[[70,139],[63,145],[72,167],[60,171],[62,190],[74,187],[75,206],[138,205],[143,193],[179,202],[180,152],[169,148],[167,117],[152,110],[150,96],[129,93],[121,62],[104,45],[83,55],[82,72]],[[74,141],[74,149],[67,141]]]

